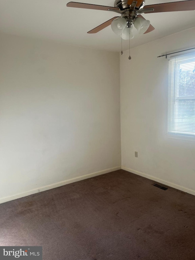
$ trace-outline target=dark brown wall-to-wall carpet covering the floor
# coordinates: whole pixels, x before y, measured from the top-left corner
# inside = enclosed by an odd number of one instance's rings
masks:
[[[44,260],[194,260],[195,196],[119,170],[0,205],[1,246]]]

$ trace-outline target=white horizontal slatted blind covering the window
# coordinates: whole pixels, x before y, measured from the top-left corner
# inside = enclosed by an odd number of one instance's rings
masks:
[[[168,134],[195,137],[195,54],[169,60]]]

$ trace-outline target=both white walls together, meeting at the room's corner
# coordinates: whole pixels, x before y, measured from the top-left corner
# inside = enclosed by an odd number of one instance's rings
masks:
[[[0,203],[119,169],[121,144],[123,169],[195,194],[195,142],[166,135],[157,58],[194,42],[192,28],[120,55],[120,140],[117,53],[0,34]]]

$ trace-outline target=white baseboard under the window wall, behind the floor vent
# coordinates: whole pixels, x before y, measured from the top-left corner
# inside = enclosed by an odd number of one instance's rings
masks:
[[[125,166],[121,166],[121,169],[122,169],[122,170],[126,170],[127,172],[130,172],[130,173],[134,173],[134,174],[140,175],[140,176],[145,177],[145,178],[147,178],[147,179],[154,180],[154,181],[156,181],[156,182],[162,183],[162,184],[164,184],[164,185],[167,185],[167,186],[169,186],[169,187],[175,188],[175,189],[177,189],[177,190],[184,191],[184,192],[186,192],[186,193],[190,193],[190,194],[192,194],[192,195],[195,195],[195,191],[193,191],[193,190],[191,190],[191,189],[188,189],[188,188],[186,188],[186,187],[177,185],[177,184],[175,184],[175,183],[168,182],[168,181],[166,181],[166,180],[161,180],[161,179],[156,178],[156,177],[154,177],[154,176],[152,176],[152,175],[149,175],[149,174],[146,174],[146,173],[141,173],[141,172],[138,172],[138,171],[136,171],[136,170],[129,169],[129,168],[125,167]]]

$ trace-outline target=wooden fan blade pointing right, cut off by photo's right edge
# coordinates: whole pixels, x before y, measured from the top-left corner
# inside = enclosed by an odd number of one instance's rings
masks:
[[[180,2],[163,3],[156,5],[145,5],[145,8],[154,8],[153,12],[177,12],[195,10],[195,0],[187,0]],[[153,13],[147,12],[147,13]]]

